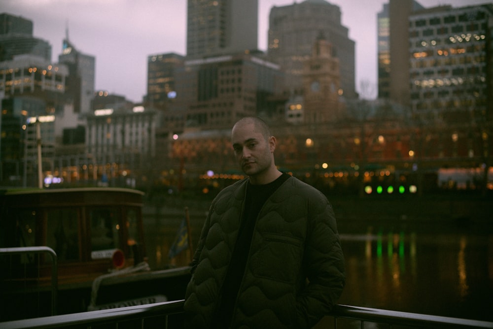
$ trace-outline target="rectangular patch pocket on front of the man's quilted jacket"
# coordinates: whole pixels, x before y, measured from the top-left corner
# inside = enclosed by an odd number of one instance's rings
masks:
[[[301,266],[301,248],[302,241],[297,237],[266,234],[261,247],[251,257],[253,275],[294,283]]]

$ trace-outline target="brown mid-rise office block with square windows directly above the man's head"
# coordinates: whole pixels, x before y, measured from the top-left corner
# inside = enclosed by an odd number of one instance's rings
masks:
[[[185,128],[231,128],[242,117],[268,113],[282,78],[279,66],[253,55],[186,61],[176,97],[177,106],[186,103]]]

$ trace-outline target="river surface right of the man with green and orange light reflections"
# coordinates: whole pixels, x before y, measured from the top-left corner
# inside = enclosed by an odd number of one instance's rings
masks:
[[[347,261],[342,304],[493,319],[491,235],[369,226],[341,240]]]

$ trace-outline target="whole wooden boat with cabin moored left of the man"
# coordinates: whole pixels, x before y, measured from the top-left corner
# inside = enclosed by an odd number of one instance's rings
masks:
[[[0,253],[0,321],[183,298],[188,267],[147,264],[142,200],[122,188],[0,192],[0,251],[45,246],[56,254],[54,271],[45,253]]]

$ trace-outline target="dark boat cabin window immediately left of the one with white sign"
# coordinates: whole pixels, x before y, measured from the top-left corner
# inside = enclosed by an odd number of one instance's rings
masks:
[[[79,259],[78,212],[74,208],[46,211],[46,245],[59,261]]]

